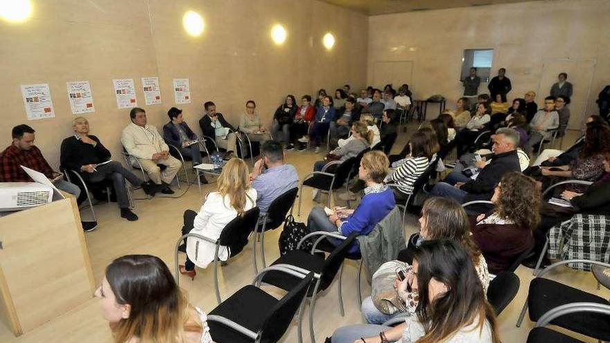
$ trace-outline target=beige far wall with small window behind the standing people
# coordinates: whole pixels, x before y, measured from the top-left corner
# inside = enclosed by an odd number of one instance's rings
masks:
[[[512,80],[509,100],[532,89],[539,90],[540,104],[550,89],[550,84],[539,85],[543,65],[568,63],[573,64],[568,80],[584,79],[575,84],[582,94],[573,105],[578,107],[580,101],[582,108],[587,106],[586,114],[598,114],[595,99],[602,86],[610,84],[609,12],[610,1],[562,0],[369,17],[367,80],[373,82],[377,61],[412,61],[410,87],[417,98],[443,94],[453,108],[463,91],[463,50],[493,48],[492,74],[505,67]],[[591,77],[584,65],[593,63]],[[547,72],[557,75],[555,70]],[[485,85],[479,88],[483,91]],[[573,113],[570,125],[577,127],[582,116]]]

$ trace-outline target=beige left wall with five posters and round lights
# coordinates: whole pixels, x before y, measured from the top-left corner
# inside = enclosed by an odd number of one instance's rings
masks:
[[[270,125],[286,94],[313,94],[366,79],[367,17],[315,0],[32,0],[33,17],[22,24],[0,21],[0,137],[27,123],[52,166],[59,145],[71,134],[66,82],[89,80],[96,112],[87,114],[92,134],[120,159],[121,130],[129,109],[118,109],[113,78],[134,78],[137,101],[159,130],[173,103],[173,78],[189,78],[192,102],[178,106],[195,132],[202,103],[237,124],[245,100],[254,99]],[[182,15],[196,10],[206,22],[200,37],[186,35]],[[288,39],[275,46],[273,24],[284,24]],[[321,44],[330,30],[332,51]],[[162,105],[146,106],[141,78],[158,76]],[[19,85],[49,83],[55,118],[28,121]]]

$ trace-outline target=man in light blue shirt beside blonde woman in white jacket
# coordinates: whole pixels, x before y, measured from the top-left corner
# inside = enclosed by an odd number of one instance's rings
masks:
[[[278,141],[265,141],[261,155],[263,158],[252,168],[252,188],[258,194],[256,206],[263,214],[276,197],[299,186],[299,175],[292,164],[284,163],[284,150]]]

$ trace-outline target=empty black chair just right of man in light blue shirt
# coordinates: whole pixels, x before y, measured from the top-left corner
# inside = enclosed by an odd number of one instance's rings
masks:
[[[306,175],[299,188],[299,216],[301,216],[301,202],[303,199],[303,186],[315,188],[329,195],[329,207],[333,198],[333,191],[347,183],[351,170],[356,164],[356,157],[350,157],[345,161],[332,161],[326,164],[322,171],[313,172]],[[326,173],[328,168],[336,166],[334,173]],[[346,185],[347,186],[347,185]],[[346,187],[347,188],[347,187]]]

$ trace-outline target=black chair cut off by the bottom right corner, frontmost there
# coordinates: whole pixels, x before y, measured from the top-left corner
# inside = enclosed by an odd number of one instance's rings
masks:
[[[605,315],[610,320],[610,306],[596,303],[572,303],[557,306],[557,308],[549,310],[540,317],[536,323],[536,327],[533,328],[528,335],[528,343],[584,343],[583,341],[577,340],[564,333],[558,333],[557,331],[545,327],[547,324],[557,319],[557,317],[575,313],[580,313],[582,317],[586,317],[589,313],[595,313],[596,315]],[[602,337],[595,336],[595,327],[593,325],[594,324],[592,323],[590,327],[587,326],[585,328],[586,331],[589,331],[587,335],[601,340]]]

